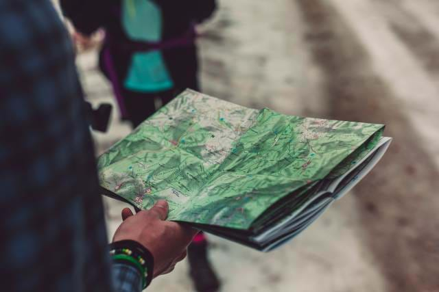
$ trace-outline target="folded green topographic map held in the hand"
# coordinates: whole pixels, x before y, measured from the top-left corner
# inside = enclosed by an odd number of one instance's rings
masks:
[[[187,90],[99,157],[103,194],[269,251],[381,159],[384,126],[249,109]]]

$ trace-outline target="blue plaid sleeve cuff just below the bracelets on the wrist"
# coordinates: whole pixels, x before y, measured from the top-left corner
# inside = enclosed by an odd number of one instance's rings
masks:
[[[113,263],[112,279],[115,292],[140,292],[142,279],[140,272],[131,265]]]

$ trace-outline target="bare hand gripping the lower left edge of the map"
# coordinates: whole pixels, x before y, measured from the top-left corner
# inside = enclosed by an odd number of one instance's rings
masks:
[[[176,263],[187,254],[198,230],[176,222],[165,221],[168,204],[159,200],[154,207],[133,215],[131,210],[122,210],[122,224],[117,228],[113,241],[131,239],[141,243],[154,256],[154,278],[171,272]]]

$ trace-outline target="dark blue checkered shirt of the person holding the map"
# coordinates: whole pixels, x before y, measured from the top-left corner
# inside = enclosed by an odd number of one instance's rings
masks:
[[[50,0],[0,0],[0,290],[141,291],[111,265],[73,50]]]

